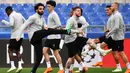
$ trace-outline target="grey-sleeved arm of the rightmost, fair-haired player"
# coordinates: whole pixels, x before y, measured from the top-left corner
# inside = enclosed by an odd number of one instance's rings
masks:
[[[120,17],[116,15],[114,19],[115,20],[114,20],[113,29],[110,30],[106,36],[109,36],[109,35],[113,34],[114,32],[116,32],[117,29],[119,29]]]

